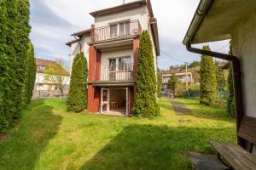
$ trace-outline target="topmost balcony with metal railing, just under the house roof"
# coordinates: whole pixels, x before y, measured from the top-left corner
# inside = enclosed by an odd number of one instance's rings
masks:
[[[142,27],[138,20],[131,20],[110,26],[95,28],[92,42],[102,42],[121,37],[136,36],[142,33]]]

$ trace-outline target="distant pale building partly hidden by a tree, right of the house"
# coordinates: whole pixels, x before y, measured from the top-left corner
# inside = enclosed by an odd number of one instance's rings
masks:
[[[167,83],[172,77],[172,74],[163,74],[162,77],[162,86],[163,88],[167,88]],[[184,85],[184,87],[186,86],[186,83],[188,83],[188,87],[194,84],[192,72],[187,72],[187,77],[185,72],[175,73],[175,77],[177,77],[177,81],[181,82]]]

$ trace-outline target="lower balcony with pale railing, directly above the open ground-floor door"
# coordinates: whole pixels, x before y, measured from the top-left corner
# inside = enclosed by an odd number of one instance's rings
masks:
[[[133,79],[133,64],[102,67],[101,82],[131,82]]]

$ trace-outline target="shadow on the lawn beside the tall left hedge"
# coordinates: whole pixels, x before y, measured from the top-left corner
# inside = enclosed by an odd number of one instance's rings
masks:
[[[0,142],[0,169],[33,169],[40,153],[57,133],[61,116],[44,100],[32,101],[23,111],[19,127]]]

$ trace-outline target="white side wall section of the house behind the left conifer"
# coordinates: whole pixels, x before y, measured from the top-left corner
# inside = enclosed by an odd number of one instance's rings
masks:
[[[90,42],[90,35],[86,35],[82,37],[82,40],[80,41],[81,45],[83,46],[82,52],[84,52],[84,57],[87,59],[87,63],[89,65],[89,45],[87,42]],[[70,73],[72,71],[72,65],[73,65],[73,59],[77,54],[80,52],[80,46],[79,42],[75,42],[71,44],[71,63],[70,63]]]

